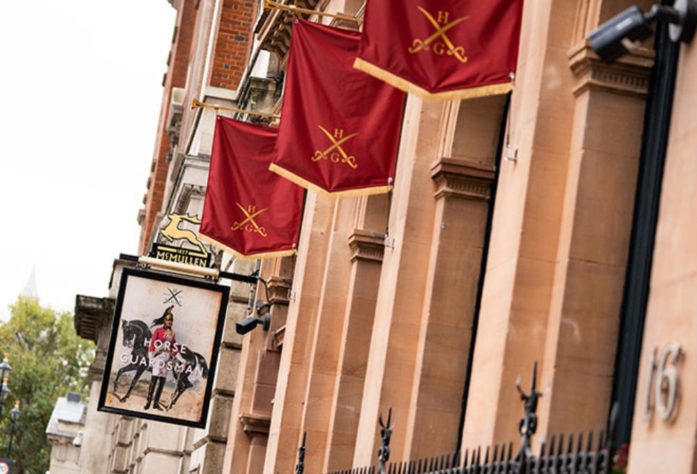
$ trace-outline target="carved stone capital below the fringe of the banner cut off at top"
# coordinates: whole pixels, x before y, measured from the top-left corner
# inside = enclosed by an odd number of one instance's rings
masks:
[[[493,165],[457,158],[441,158],[431,167],[431,178],[436,183],[434,197],[489,201],[495,174]]]

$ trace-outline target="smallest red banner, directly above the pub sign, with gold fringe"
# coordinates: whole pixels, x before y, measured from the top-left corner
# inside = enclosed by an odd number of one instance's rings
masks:
[[[268,170],[275,128],[218,116],[199,236],[242,259],[295,253],[299,186]]]

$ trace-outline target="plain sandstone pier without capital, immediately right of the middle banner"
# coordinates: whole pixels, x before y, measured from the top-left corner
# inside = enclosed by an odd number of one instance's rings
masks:
[[[395,191],[390,209],[375,319],[353,456],[354,466],[374,463],[378,415],[391,406],[401,423],[392,434],[392,459],[403,459],[416,353],[424,304],[436,203],[430,168],[438,158],[443,104],[409,96],[404,113]]]

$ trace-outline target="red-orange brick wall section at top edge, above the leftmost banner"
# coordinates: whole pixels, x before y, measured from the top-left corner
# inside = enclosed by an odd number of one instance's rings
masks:
[[[252,48],[259,0],[223,0],[208,84],[237,89]]]

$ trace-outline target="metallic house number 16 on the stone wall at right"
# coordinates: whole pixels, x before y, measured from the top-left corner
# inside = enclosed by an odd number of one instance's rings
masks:
[[[654,349],[649,358],[648,379],[644,392],[644,420],[650,420],[653,408],[661,420],[670,420],[675,411],[677,400],[678,374],[675,364],[680,355],[680,345],[673,342],[668,344],[661,352],[656,364],[656,354],[658,349]],[[655,377],[654,377],[655,372]],[[654,404],[651,403],[653,395]]]

